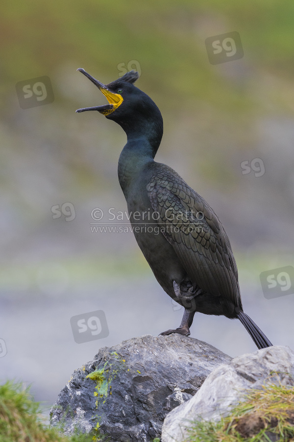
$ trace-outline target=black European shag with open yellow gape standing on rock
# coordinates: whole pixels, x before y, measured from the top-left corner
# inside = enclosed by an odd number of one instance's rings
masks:
[[[200,312],[238,318],[259,349],[271,346],[243,311],[236,261],[219,217],[171,167],[154,161],[163,119],[134,85],[138,72],[105,85],[77,70],[109,104],[76,112],[99,111],[126,133],[118,175],[135,238],[161,287],[185,308],[180,326],[160,334],[189,336],[194,314]]]

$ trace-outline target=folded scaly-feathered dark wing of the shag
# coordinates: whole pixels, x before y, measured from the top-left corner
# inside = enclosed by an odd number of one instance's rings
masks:
[[[147,192],[161,231],[192,282],[241,306],[235,258],[212,208],[167,166],[153,172]]]

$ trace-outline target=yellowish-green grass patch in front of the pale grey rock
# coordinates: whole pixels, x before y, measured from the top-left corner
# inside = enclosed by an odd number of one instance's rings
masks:
[[[294,387],[265,385],[218,422],[196,421],[185,442],[294,441]]]

